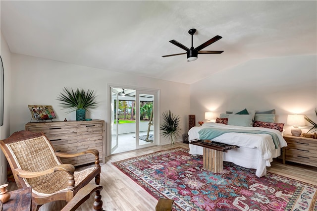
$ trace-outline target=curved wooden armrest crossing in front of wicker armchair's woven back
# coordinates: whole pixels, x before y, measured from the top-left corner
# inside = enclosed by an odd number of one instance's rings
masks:
[[[16,174],[23,178],[34,178],[43,176],[55,171],[66,171],[70,176],[74,176],[75,167],[71,164],[60,164],[45,171],[25,171],[19,168],[14,169]]]

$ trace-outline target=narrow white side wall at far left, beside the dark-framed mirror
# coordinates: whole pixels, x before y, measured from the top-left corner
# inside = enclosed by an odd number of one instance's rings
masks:
[[[1,36],[1,58],[3,63],[3,71],[4,71],[4,106],[3,106],[3,125],[0,126],[0,139],[8,138],[10,135],[10,81],[11,81],[11,53],[9,47],[6,43],[5,38],[2,33]],[[6,174],[7,174],[7,161],[2,153],[0,152],[0,184],[6,183]]]

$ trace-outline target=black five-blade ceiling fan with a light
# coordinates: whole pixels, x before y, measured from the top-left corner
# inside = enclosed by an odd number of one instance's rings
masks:
[[[192,36],[192,47],[189,49],[183,44],[178,43],[176,40],[169,41],[170,43],[174,44],[175,46],[178,46],[181,49],[184,49],[187,53],[187,61],[194,61],[197,59],[198,54],[218,54],[222,53],[223,51],[201,51],[202,49],[206,48],[207,46],[211,45],[212,43],[216,42],[217,40],[220,40],[222,37],[217,35],[211,38],[209,41],[203,43],[202,45],[194,48],[193,47],[193,35],[195,34],[196,29],[190,29],[188,33]],[[162,57],[167,56],[173,56],[173,55],[181,55],[185,53],[176,53],[176,54],[170,54],[170,55],[162,55]]]

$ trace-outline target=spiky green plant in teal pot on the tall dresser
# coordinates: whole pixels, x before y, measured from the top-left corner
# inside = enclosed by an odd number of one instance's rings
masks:
[[[76,121],[85,121],[86,110],[97,108],[98,103],[94,91],[85,91],[83,88],[69,90],[65,87],[63,91],[57,97],[57,100],[60,101],[60,106],[63,109],[69,109],[68,113],[76,110]]]

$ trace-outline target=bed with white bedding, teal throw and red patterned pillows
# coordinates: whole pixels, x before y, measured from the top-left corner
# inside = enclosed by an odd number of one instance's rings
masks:
[[[262,177],[266,174],[266,166],[271,166],[273,158],[279,157],[281,148],[287,146],[282,135],[284,124],[274,121],[274,114],[220,114],[217,123],[207,122],[200,127],[192,127],[188,138],[239,146],[223,153],[223,160],[255,168],[256,175]],[[203,147],[189,144],[189,149],[192,155],[203,155]]]

